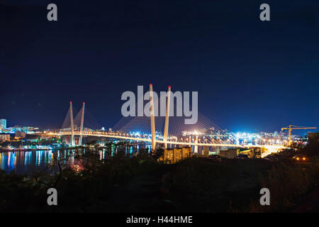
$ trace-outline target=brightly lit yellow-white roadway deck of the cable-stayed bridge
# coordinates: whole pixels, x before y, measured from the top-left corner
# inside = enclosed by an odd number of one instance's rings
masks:
[[[120,134],[120,135],[118,135]],[[130,137],[121,135],[122,133],[99,133],[99,132],[82,132],[74,131],[74,135],[84,135],[84,136],[97,136],[97,137],[106,137],[106,138],[118,138],[123,140],[138,140],[152,143],[152,139],[139,138],[139,137]],[[125,133],[123,133],[125,134]],[[60,133],[42,133],[41,135],[72,135],[71,132],[60,132]],[[128,135],[128,134],[126,134]],[[164,143],[163,140],[156,140],[156,143]],[[210,146],[210,147],[229,147],[229,148],[267,148],[268,150],[280,150],[285,148],[282,145],[237,145],[230,143],[187,143],[187,142],[177,142],[177,141],[167,141],[165,143],[174,144],[174,145],[197,145],[197,146]]]

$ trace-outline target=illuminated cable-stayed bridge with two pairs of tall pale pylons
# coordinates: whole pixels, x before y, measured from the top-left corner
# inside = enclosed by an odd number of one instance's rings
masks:
[[[228,147],[228,148],[267,148],[267,150],[279,150],[284,148],[282,145],[266,145],[266,144],[238,144],[235,138],[231,138],[227,131],[219,128],[215,123],[211,122],[198,113],[198,121],[195,124],[187,125],[184,123],[185,117],[172,116],[171,87],[164,93],[165,116],[155,116],[155,103],[152,84],[150,84],[150,116],[123,117],[121,121],[113,126],[113,131],[100,131],[84,128],[84,107],[79,114],[73,118],[72,101],[70,101],[67,117],[60,131],[50,131],[45,135],[69,136],[70,146],[82,145],[84,136],[96,136],[102,138],[114,138],[121,140],[135,140],[145,143],[152,143],[154,151],[157,144],[177,145],[177,146],[194,146],[194,153],[197,153],[198,147]],[[140,101],[140,100],[138,100]],[[170,109],[171,108],[171,109]],[[173,105],[174,109],[174,105]],[[74,121],[77,124],[74,124]],[[79,137],[78,143],[75,143],[75,136]]]

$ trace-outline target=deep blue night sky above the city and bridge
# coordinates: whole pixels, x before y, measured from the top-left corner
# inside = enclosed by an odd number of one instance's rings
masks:
[[[0,1],[9,126],[58,128],[72,100],[108,128],[121,94],[150,82],[198,91],[198,111],[231,131],[319,126],[318,0],[101,2]],[[259,20],[263,3],[271,21]]]

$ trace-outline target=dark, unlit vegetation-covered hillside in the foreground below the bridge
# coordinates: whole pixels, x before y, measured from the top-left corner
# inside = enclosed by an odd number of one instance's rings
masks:
[[[63,160],[56,159],[47,170],[29,177],[1,171],[0,211],[295,211],[313,190],[318,190],[319,162],[294,163],[287,154],[279,154],[283,157],[279,162],[226,159],[216,163],[191,157],[167,165],[155,161],[146,150],[133,157],[120,152],[106,160],[100,160],[95,149],[85,154],[78,150],[75,155],[82,160],[82,170],[66,167]],[[49,171],[52,167],[57,169],[56,174]],[[57,206],[47,205],[50,187],[57,189]],[[259,204],[263,187],[270,190],[270,206]],[[313,209],[318,209],[318,204],[310,211]]]

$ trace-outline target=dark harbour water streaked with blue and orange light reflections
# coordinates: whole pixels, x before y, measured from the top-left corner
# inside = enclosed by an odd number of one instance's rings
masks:
[[[132,155],[134,151],[140,150],[140,148],[149,148],[150,145],[137,145],[130,147],[112,146],[108,149],[99,150],[100,160],[104,160],[108,155],[115,155],[118,151],[125,151],[125,154]],[[85,149],[80,151],[85,153]],[[67,158],[67,155],[71,154],[67,150],[35,150],[35,151],[16,151],[16,152],[4,152],[0,153],[0,169],[6,172],[16,171],[19,175],[30,175],[35,170],[43,170],[47,165],[52,164],[55,158]],[[68,160],[63,161],[62,164],[69,165],[75,170],[79,170],[82,167],[82,163],[77,158],[74,158],[74,153],[70,155]]]

